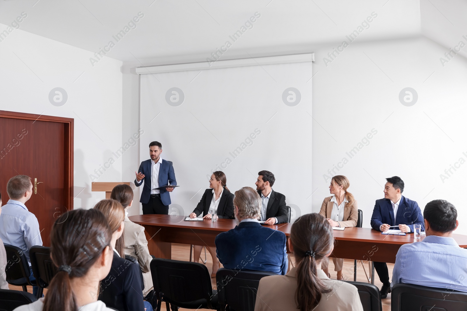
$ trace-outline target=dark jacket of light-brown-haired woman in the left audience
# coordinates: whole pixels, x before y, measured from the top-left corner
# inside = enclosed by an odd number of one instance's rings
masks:
[[[143,311],[140,267],[113,251],[112,268],[100,282],[99,300],[119,311]]]

